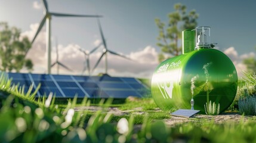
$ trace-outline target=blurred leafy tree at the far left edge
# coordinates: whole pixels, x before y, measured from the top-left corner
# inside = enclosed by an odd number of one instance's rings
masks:
[[[26,51],[31,48],[27,37],[20,36],[20,29],[9,27],[7,23],[0,23],[0,70],[19,72],[23,67],[33,69],[30,59],[25,59]]]

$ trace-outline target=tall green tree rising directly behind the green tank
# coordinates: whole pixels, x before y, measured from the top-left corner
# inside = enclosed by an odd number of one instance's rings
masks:
[[[159,18],[155,19],[156,25],[159,29],[158,43],[161,48],[161,54],[159,54],[159,61],[164,60],[164,53],[176,56],[181,54],[181,32],[185,29],[195,29],[197,26],[196,19],[198,14],[196,10],[186,13],[186,6],[183,4],[175,4],[175,11],[168,14],[168,27],[165,28],[165,23]]]

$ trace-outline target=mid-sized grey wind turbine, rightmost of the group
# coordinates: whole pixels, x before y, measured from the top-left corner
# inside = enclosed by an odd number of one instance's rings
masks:
[[[92,69],[92,72],[95,70],[95,68],[100,63],[101,58],[103,58],[103,56],[105,55],[105,68],[106,68],[105,73],[107,74],[107,52],[109,52],[110,54],[113,54],[113,55],[118,55],[119,57],[127,58],[128,60],[131,60],[131,58],[128,58],[125,55],[121,55],[121,54],[118,54],[116,52],[113,52],[113,51],[111,51],[107,48],[107,43],[106,43],[106,40],[104,38],[103,31],[101,29],[100,19],[97,18],[97,20],[98,20],[98,28],[100,29],[100,35],[101,35],[101,40],[102,40],[104,49],[103,49],[103,53],[101,54],[100,58],[98,59],[97,63],[95,64],[94,68]]]

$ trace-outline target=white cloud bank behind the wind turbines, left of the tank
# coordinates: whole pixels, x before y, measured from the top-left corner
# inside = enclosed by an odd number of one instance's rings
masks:
[[[30,30],[21,33],[22,36],[28,36],[32,40],[38,29],[39,24],[31,24]],[[100,41],[95,41],[95,44],[100,43]],[[85,55],[79,51],[80,46],[76,44],[69,45],[58,45],[58,61],[72,69],[74,72],[70,73],[66,69],[60,67],[60,74],[81,74],[84,68]],[[52,46],[51,60],[52,63],[56,60],[55,45]],[[118,52],[118,51],[115,51]],[[119,52],[118,52],[119,53]],[[102,54],[101,50],[90,55],[90,67],[94,67],[97,60]],[[121,53],[122,54],[122,53]],[[122,54],[124,55],[124,54]],[[156,66],[158,66],[158,52],[152,46],[146,46],[146,48],[131,52],[125,55],[131,60],[127,60],[110,53],[107,54],[108,61],[108,73],[111,76],[133,76],[133,77],[151,77]],[[41,32],[38,34],[35,42],[32,45],[27,58],[32,59],[34,64],[35,73],[45,73],[46,71],[46,54],[45,54],[45,27],[42,28]],[[104,60],[101,59],[100,64],[95,69],[94,74],[104,73]],[[52,73],[56,73],[57,68],[53,67]]]

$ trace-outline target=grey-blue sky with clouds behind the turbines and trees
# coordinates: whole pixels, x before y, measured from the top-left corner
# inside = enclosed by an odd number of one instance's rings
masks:
[[[52,0],[47,1],[51,12],[67,14],[98,14],[107,48],[131,58],[133,61],[108,54],[110,76],[152,77],[158,66],[158,27],[155,18],[168,21],[168,13],[174,4],[186,5],[187,11],[199,14],[198,26],[211,27],[211,42],[230,57],[239,76],[245,65],[243,58],[255,56],[256,2],[255,1],[169,1],[169,0]],[[39,0],[0,0],[0,21],[21,29],[22,36],[33,38],[44,16]],[[59,61],[73,69],[60,69],[61,74],[81,74],[84,54],[78,49],[90,51],[101,42],[96,18],[52,17],[51,19],[52,63],[56,58],[58,44]],[[56,43],[57,39],[57,43]],[[101,46],[90,55],[91,68],[102,53]],[[34,63],[33,73],[46,72],[45,27],[32,45],[27,58]],[[104,61],[104,60],[103,60]],[[104,72],[101,61],[93,74]],[[26,72],[26,70],[23,70]],[[56,73],[53,67],[52,73]]]

